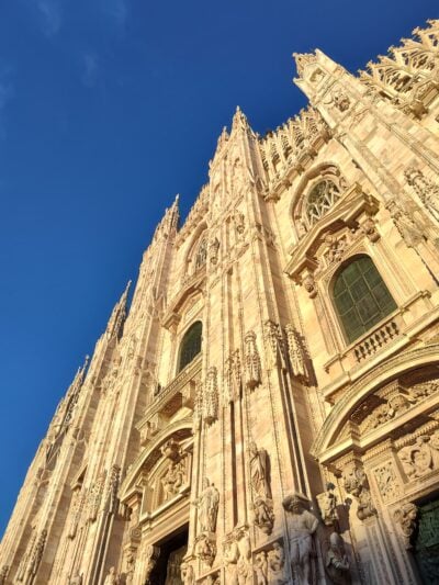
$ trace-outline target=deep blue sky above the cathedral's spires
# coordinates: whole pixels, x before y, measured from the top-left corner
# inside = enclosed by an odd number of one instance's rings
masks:
[[[56,404],[236,105],[264,133],[305,103],[293,52],[356,71],[438,16],[437,0],[1,2],[0,535]]]

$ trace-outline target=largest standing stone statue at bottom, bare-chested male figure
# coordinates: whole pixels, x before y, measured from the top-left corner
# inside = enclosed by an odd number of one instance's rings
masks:
[[[300,494],[284,498],[282,506],[290,514],[290,559],[293,575],[297,575],[301,585],[311,585],[312,556],[314,556],[313,535],[318,520],[305,507],[307,499]]]

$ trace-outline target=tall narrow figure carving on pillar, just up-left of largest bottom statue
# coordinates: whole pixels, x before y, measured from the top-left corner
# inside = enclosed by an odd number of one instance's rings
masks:
[[[270,484],[270,458],[264,449],[258,449],[252,441],[249,448],[249,459],[255,526],[266,535],[271,535],[274,514]]]

